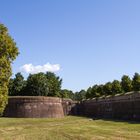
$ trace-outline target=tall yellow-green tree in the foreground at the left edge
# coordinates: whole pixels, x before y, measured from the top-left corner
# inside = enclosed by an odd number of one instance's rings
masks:
[[[8,29],[0,24],[0,114],[7,104],[8,83],[12,75],[11,63],[18,55],[18,48]]]

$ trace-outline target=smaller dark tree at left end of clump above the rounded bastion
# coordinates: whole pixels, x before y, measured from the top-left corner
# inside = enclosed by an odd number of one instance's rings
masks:
[[[23,93],[23,90],[26,86],[26,81],[24,81],[24,77],[19,72],[15,75],[14,79],[10,80],[9,83],[9,95],[10,96],[20,96]]]

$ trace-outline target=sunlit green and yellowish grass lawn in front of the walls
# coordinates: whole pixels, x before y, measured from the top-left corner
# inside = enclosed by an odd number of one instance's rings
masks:
[[[140,124],[83,117],[0,118],[0,140],[140,140]]]

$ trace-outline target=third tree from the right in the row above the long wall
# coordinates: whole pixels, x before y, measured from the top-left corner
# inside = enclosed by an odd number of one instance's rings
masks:
[[[117,93],[121,93],[122,92],[122,88],[121,88],[121,84],[118,80],[114,80],[112,82],[112,93],[113,95],[117,94]]]

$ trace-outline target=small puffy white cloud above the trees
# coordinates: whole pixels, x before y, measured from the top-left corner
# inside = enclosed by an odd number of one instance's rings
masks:
[[[25,64],[23,66],[20,67],[20,71],[22,72],[26,72],[26,73],[31,73],[31,74],[35,74],[35,73],[39,73],[39,72],[56,72],[60,70],[60,65],[59,64],[50,64],[47,63],[45,65],[37,65],[34,66],[33,64]]]

